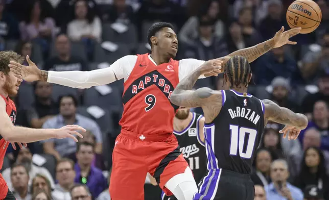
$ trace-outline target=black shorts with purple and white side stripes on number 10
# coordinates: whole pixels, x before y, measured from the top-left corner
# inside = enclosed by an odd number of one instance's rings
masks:
[[[193,200],[253,200],[254,185],[249,174],[225,169],[208,171]]]

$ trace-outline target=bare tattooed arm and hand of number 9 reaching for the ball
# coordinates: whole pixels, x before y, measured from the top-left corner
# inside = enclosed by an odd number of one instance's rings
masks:
[[[248,59],[248,62],[251,63],[272,48],[280,47],[285,44],[297,44],[297,42],[289,41],[289,38],[299,34],[300,28],[290,29],[285,32],[284,30],[284,27],[282,27],[276,32],[273,38],[257,45],[235,51],[228,56],[222,57],[221,60],[226,63],[232,56],[244,56]]]

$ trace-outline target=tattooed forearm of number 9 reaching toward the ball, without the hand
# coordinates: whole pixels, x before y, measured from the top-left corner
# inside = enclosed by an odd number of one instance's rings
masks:
[[[248,62],[252,62],[262,56],[263,54],[270,51],[272,48],[274,48],[274,40],[269,39],[265,42],[262,42],[260,44],[251,46],[249,48],[243,48],[238,51],[235,51],[231,54],[229,54],[229,57],[232,56],[244,56],[248,59]]]

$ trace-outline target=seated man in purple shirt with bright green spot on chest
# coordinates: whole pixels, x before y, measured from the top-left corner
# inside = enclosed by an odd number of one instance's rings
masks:
[[[75,183],[86,184],[93,197],[98,197],[104,189],[108,187],[103,172],[91,165],[94,158],[94,149],[90,143],[78,143],[77,163],[75,165],[76,178]]]

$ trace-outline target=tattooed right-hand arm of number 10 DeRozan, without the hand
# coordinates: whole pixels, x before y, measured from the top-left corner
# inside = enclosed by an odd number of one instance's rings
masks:
[[[274,102],[264,99],[265,118],[281,124],[294,126],[297,129],[305,129],[308,125],[307,117],[303,114],[294,113],[288,108],[279,107]]]

